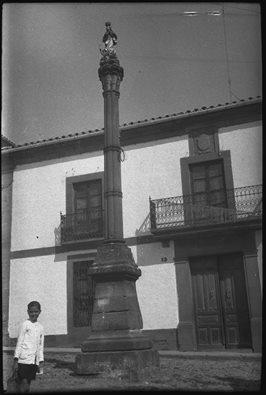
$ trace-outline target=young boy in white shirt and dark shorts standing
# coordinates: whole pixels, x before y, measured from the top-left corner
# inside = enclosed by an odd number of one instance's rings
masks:
[[[14,354],[13,369],[18,371],[20,392],[29,392],[36,373],[43,369],[44,330],[37,321],[41,305],[37,301],[28,304],[29,318],[20,328]]]

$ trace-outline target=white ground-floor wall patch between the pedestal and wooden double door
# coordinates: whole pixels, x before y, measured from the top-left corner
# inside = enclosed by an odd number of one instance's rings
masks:
[[[178,296],[173,262],[174,245],[161,243],[131,247],[142,275],[136,282],[143,329],[170,329],[178,324]]]

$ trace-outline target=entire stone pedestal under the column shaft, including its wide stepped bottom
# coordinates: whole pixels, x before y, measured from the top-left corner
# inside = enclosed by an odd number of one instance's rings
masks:
[[[130,248],[123,242],[103,244],[89,274],[95,283],[91,333],[76,356],[76,372],[158,366],[158,352],[141,331],[135,284],[141,270]]]

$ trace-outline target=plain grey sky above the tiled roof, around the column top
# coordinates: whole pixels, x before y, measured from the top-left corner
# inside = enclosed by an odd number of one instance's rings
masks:
[[[259,3],[4,3],[3,135],[103,128],[106,21],[124,68],[120,125],[262,95]]]

